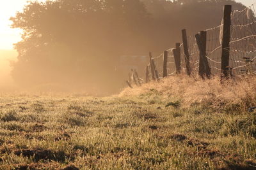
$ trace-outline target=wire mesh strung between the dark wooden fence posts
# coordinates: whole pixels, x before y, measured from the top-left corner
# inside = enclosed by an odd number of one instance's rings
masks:
[[[229,69],[233,77],[243,76],[244,74],[256,73],[256,18],[255,4],[244,8],[241,11],[231,12],[230,42],[229,51]],[[223,53],[223,20],[220,25],[205,30],[206,38],[206,59],[211,68],[211,74],[221,74],[221,54]],[[191,74],[198,74],[200,68],[200,50],[195,38],[195,34],[186,36],[188,41],[189,67]],[[186,55],[184,44],[180,46],[180,72],[186,73]],[[177,63],[175,62],[175,49],[170,48],[167,51],[167,75],[179,73]],[[152,57],[155,63],[159,78],[163,78],[164,53]],[[152,77],[152,66],[148,64],[148,76]]]

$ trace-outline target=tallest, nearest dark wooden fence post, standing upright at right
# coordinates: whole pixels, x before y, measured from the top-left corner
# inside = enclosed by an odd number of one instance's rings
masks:
[[[221,52],[221,80],[228,78],[229,73],[229,54],[230,54],[230,27],[231,27],[231,5],[224,6],[223,12],[223,35]]]

